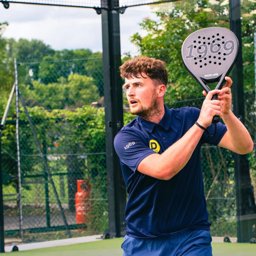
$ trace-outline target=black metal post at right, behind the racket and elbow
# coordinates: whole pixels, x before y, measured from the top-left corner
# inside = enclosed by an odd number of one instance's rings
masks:
[[[240,0],[229,1],[230,29],[238,38],[239,52],[232,72],[234,114],[244,123],[243,61]],[[249,163],[246,155],[235,154],[237,237],[238,242],[249,242],[256,224],[256,206],[252,192]]]

